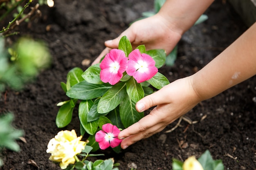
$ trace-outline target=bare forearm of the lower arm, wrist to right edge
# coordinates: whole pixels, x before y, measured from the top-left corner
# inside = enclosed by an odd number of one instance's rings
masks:
[[[256,23],[191,78],[194,90],[204,100],[255,74]]]

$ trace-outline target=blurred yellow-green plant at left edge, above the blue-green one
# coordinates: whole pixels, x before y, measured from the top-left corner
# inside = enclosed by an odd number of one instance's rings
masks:
[[[24,85],[51,64],[49,49],[42,41],[20,38],[5,49],[0,39],[0,92],[7,87],[20,91]]]

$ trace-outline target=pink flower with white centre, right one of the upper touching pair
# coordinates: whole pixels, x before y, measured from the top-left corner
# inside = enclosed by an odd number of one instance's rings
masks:
[[[138,83],[151,79],[158,71],[155,61],[150,55],[140,53],[135,49],[129,54],[126,73],[133,76]]]

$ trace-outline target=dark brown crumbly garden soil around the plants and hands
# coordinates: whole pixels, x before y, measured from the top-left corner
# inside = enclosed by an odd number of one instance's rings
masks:
[[[247,29],[231,5],[222,2],[216,0],[205,12],[209,19],[185,33],[178,44],[175,65],[159,69],[170,82],[201,69]],[[56,104],[67,99],[60,82],[65,82],[67,72],[76,66],[85,70],[88,66],[83,66],[82,61],[92,62],[104,49],[104,41],[117,37],[141,12],[153,11],[153,0],[56,0],[54,8],[41,6],[40,11],[39,20],[22,23],[18,29],[20,35],[45,40],[53,64],[23,91],[7,89],[1,95],[0,112],[15,114],[13,125],[25,131],[27,141],[18,141],[21,147],[18,153],[4,150],[2,170],[60,170],[48,160],[49,140],[60,130],[76,129],[79,134],[77,110],[70,125],[56,127]],[[225,170],[255,170],[254,97],[255,76],[198,104],[186,114],[193,121],[207,116],[200,122],[190,125],[182,121],[173,132],[164,133],[177,124],[175,121],[163,132],[133,144],[120,154],[104,151],[104,158],[114,157],[120,170],[130,170],[131,165],[136,165],[137,170],[171,170],[173,158],[184,161],[209,149],[213,159],[222,159]],[[39,168],[29,164],[30,159]]]

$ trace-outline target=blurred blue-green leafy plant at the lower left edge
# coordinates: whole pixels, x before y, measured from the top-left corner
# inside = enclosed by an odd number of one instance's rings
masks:
[[[18,152],[20,146],[16,143],[16,139],[19,139],[23,135],[22,130],[17,130],[14,128],[11,123],[13,121],[13,114],[6,113],[0,116],[0,152],[4,148]],[[3,161],[0,158],[0,166],[3,165]]]

